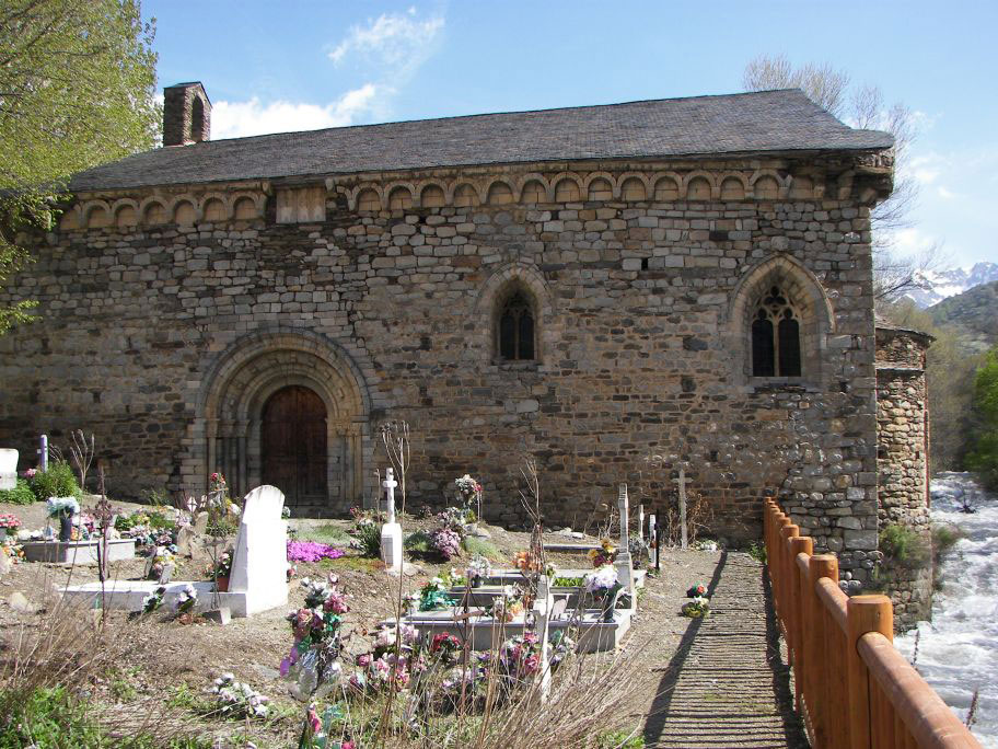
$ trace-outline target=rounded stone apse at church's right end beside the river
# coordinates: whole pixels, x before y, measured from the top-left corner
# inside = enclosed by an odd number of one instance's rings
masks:
[[[878,519],[882,535],[893,527],[915,540],[906,558],[887,555],[879,571],[898,629],[928,619],[932,606],[925,374],[930,342],[924,333],[877,327]]]

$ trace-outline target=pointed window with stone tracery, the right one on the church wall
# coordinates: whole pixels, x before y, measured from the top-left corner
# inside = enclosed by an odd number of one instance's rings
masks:
[[[763,297],[752,320],[752,376],[801,376],[800,318],[778,286]]]

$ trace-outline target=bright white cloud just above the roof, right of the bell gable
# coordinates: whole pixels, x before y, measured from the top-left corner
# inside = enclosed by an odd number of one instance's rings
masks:
[[[391,93],[386,87],[365,83],[325,105],[285,101],[263,104],[256,96],[247,102],[220,101],[211,107],[211,137],[218,140],[352,125]]]

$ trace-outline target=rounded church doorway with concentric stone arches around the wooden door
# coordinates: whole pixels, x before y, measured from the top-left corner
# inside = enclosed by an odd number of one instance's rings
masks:
[[[188,475],[219,471],[233,495],[274,484],[299,517],[343,515],[363,502],[370,407],[360,370],[328,338],[251,334],[206,373]]]

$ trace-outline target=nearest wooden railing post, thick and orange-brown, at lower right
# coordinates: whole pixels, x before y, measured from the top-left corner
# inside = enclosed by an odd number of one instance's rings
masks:
[[[846,611],[849,627],[846,650],[849,734],[852,749],[873,749],[870,672],[856,648],[859,638],[868,632],[880,632],[893,641],[894,612],[886,596],[855,596],[849,599]]]

